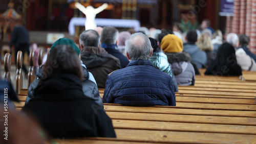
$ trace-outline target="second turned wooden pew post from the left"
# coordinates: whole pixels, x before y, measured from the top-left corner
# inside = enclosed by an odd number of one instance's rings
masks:
[[[17,70],[16,70],[16,79],[15,79],[15,84],[16,84],[15,89],[17,94],[19,94],[20,90],[23,88],[22,64],[23,64],[22,51],[18,51]]]

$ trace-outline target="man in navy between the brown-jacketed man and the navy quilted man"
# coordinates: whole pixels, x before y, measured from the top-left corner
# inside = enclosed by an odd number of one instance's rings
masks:
[[[114,57],[120,60],[121,68],[124,68],[129,60],[123,56],[117,47],[117,39],[118,39],[118,30],[114,27],[104,27],[101,31],[100,42],[101,47],[103,47],[106,52],[113,55]]]

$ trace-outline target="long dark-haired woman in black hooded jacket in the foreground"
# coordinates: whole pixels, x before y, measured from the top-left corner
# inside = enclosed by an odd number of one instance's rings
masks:
[[[77,53],[58,45],[43,69],[45,80],[23,107],[53,137],[116,137],[112,121],[82,90],[82,69]]]

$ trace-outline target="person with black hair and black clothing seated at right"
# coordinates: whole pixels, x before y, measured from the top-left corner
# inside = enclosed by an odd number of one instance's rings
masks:
[[[207,67],[204,75],[241,76],[242,69],[237,63],[234,47],[223,43],[217,52],[217,57]]]

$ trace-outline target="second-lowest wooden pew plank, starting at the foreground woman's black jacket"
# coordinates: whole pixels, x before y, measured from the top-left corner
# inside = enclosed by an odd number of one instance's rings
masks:
[[[219,125],[178,122],[137,121],[125,119],[113,119],[115,129],[139,129],[139,130],[163,130],[186,132],[211,132],[211,133],[236,133],[256,134],[256,126],[243,125]]]

